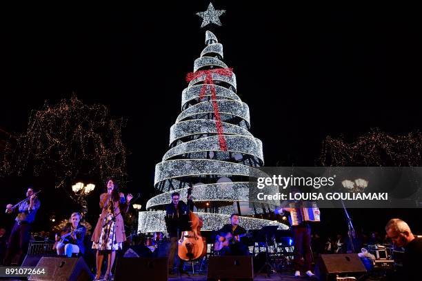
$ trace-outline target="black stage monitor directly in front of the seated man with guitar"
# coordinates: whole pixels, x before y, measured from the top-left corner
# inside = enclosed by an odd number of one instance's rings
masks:
[[[210,256],[207,280],[253,280],[252,256]]]

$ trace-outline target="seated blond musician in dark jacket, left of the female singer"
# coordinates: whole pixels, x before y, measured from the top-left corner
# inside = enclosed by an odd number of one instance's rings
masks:
[[[86,227],[81,225],[81,214],[75,212],[70,216],[66,227],[61,231],[61,235],[56,234],[56,249],[58,255],[72,256],[72,253],[84,253],[85,246],[83,238],[85,237]]]

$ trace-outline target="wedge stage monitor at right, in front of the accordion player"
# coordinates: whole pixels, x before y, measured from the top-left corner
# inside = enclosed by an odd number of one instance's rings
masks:
[[[336,275],[361,275],[365,265],[357,253],[323,254],[316,264],[319,280],[335,280]]]

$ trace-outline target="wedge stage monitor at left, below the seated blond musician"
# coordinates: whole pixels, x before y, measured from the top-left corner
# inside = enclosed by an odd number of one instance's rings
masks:
[[[28,280],[86,281],[92,280],[92,273],[83,258],[42,257],[37,268],[45,274],[30,275]]]

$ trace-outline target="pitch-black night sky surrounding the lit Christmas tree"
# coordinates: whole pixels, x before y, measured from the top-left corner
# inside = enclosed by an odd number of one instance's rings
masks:
[[[3,10],[1,28],[6,72],[0,128],[24,132],[30,110],[73,92],[84,103],[107,105],[113,116],[128,120],[125,191],[141,192],[143,205],[154,192],[154,165],[167,151],[170,126],[181,112],[185,75],[205,46],[195,13],[209,3],[155,2],[143,8],[10,8]],[[266,166],[319,165],[326,136],[352,141],[375,127],[389,134],[421,129],[416,9],[277,2],[213,1],[226,12],[223,26],[210,28],[223,44],[223,61],[234,67],[237,94],[250,107],[251,132],[263,141]],[[0,205],[16,202],[29,183],[46,186],[40,229],[52,211],[68,216],[66,199],[48,191],[52,180],[46,178],[2,178]],[[99,187],[90,198],[94,218]],[[421,214],[351,210],[365,231],[382,230],[391,216],[400,216],[422,233]],[[344,229],[342,216],[341,210],[326,211],[325,221]],[[0,219],[1,225],[11,220],[3,214]]]

